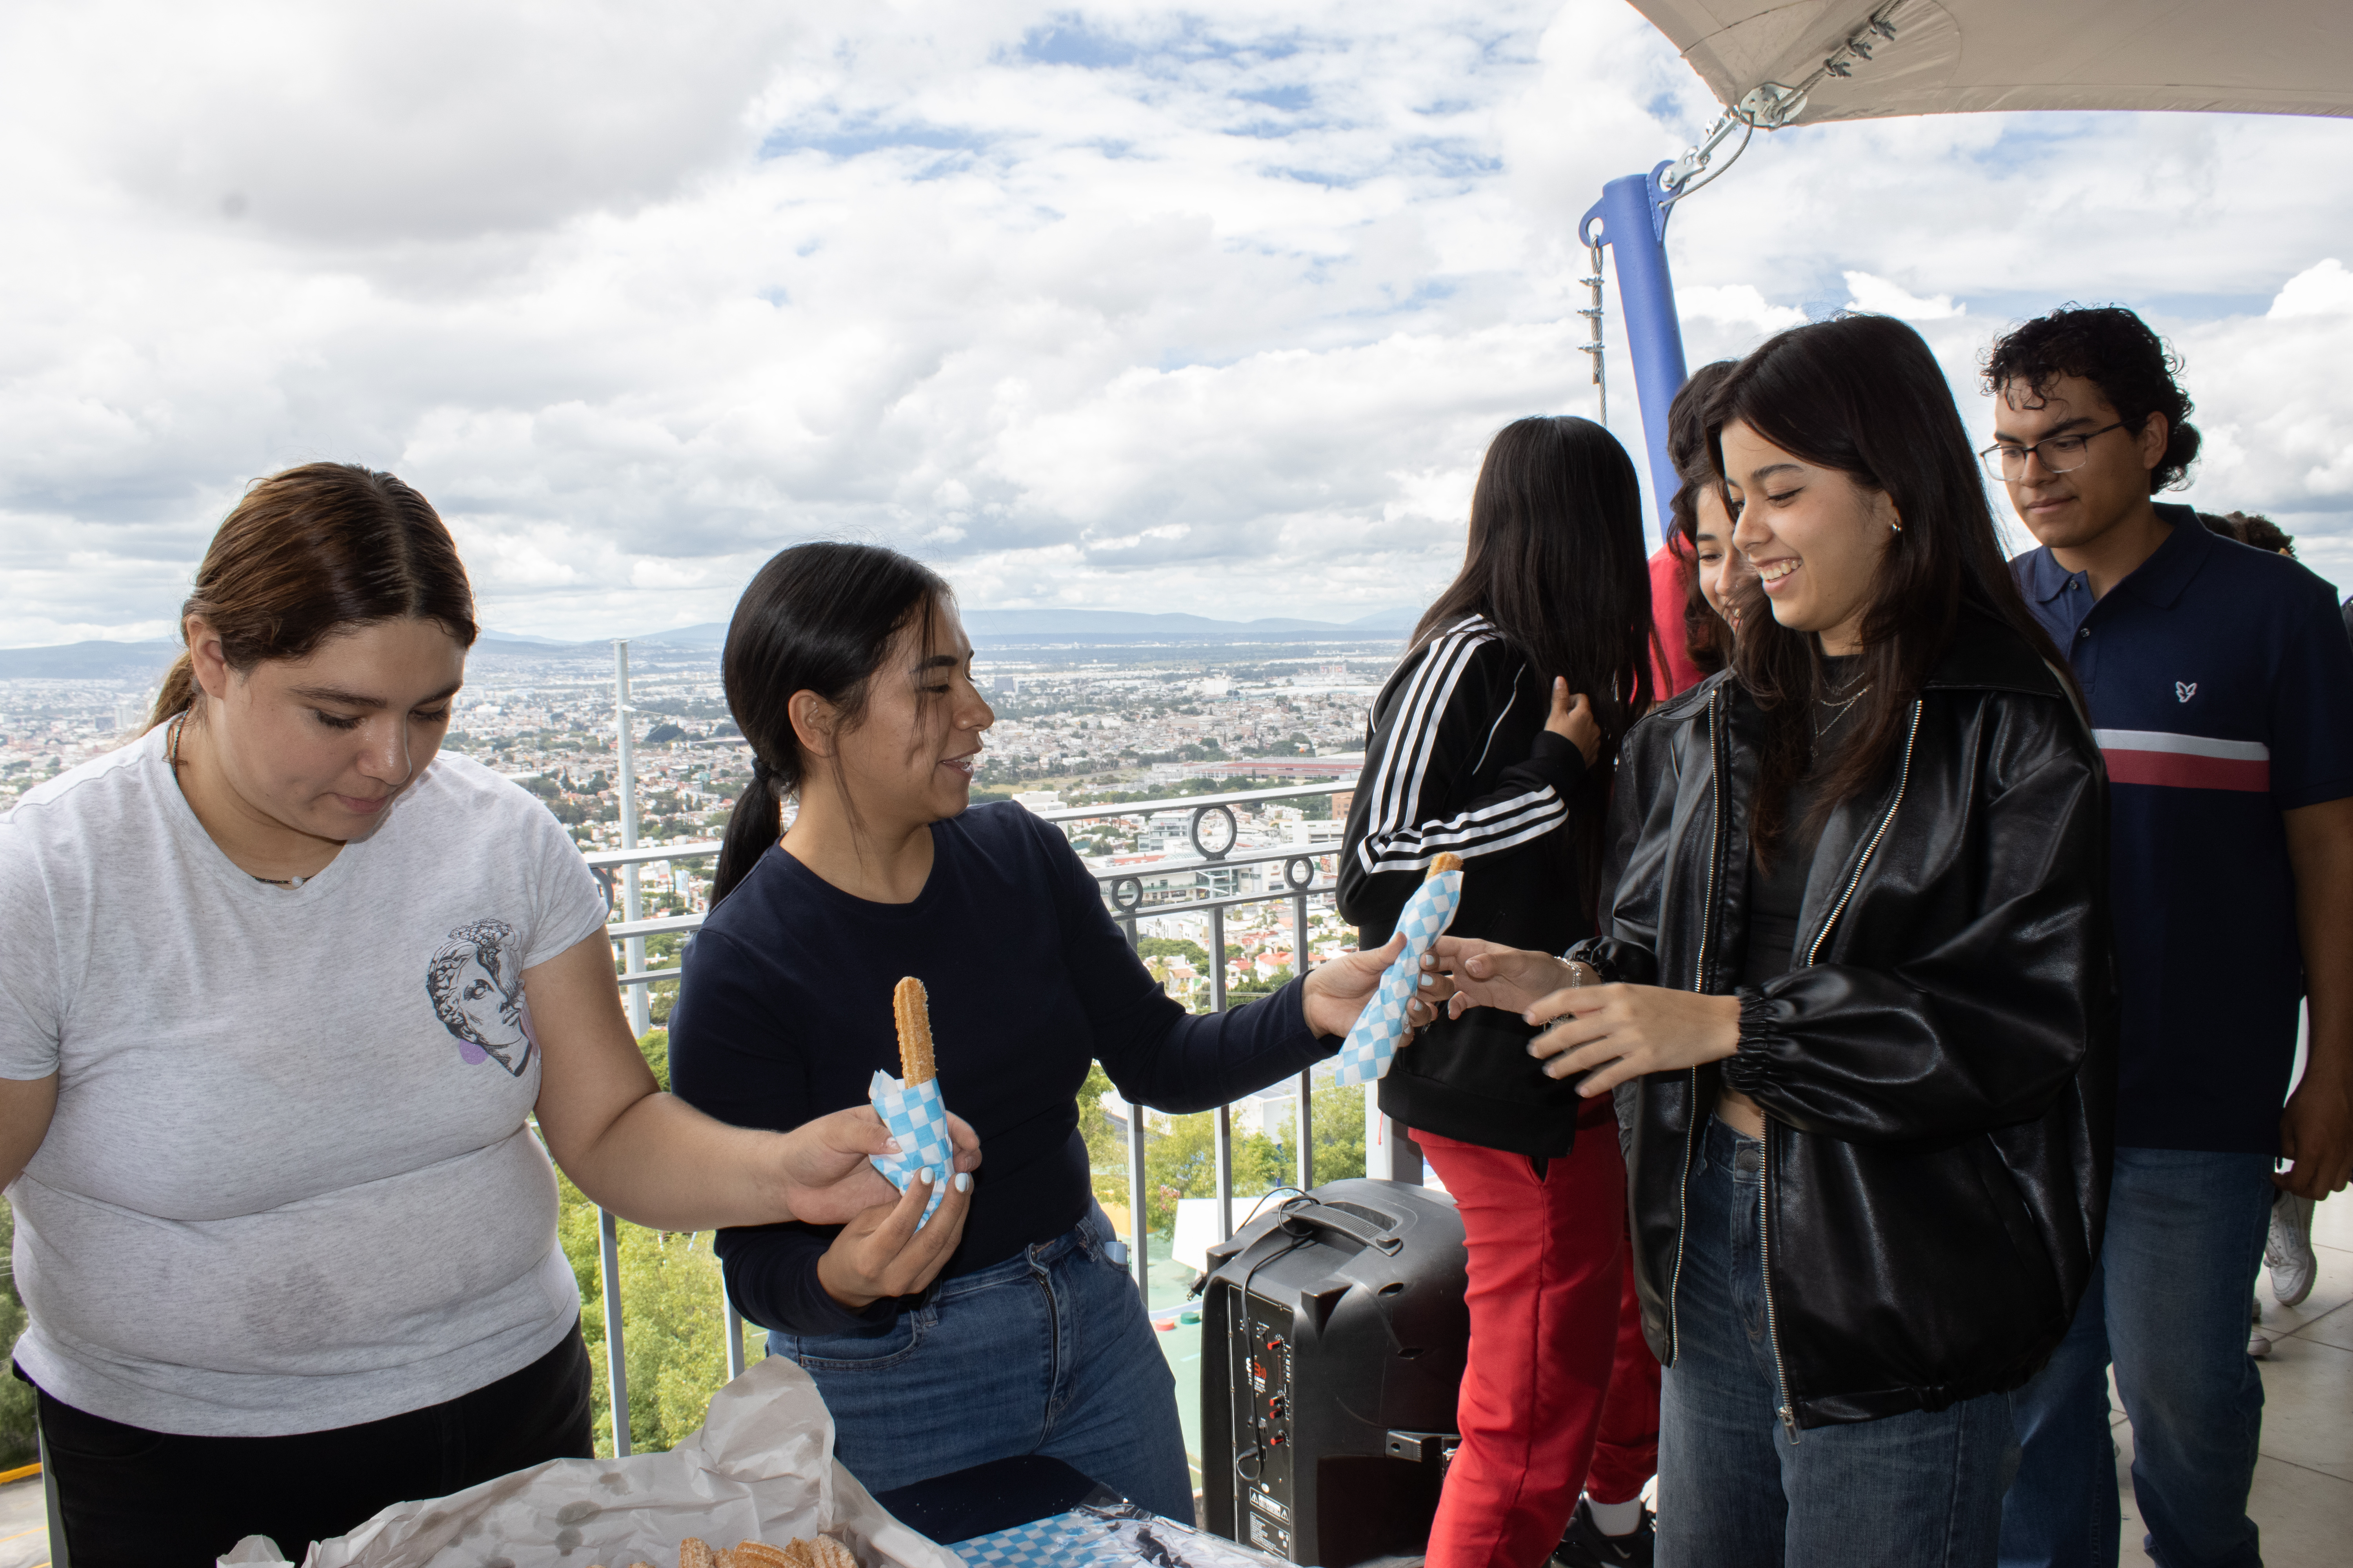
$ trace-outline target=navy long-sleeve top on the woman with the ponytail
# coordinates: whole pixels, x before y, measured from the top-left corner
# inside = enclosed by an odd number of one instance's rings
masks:
[[[922,978],[941,1098],[984,1154],[944,1276],[1002,1262],[1087,1213],[1075,1095],[1089,1058],[1132,1105],[1195,1112],[1339,1046],[1308,1030],[1299,983],[1228,1013],[1186,1013],[1129,950],[1061,832],[1021,806],[934,823],[932,853],[922,893],[889,905],[769,849],[687,954],[671,1084],[734,1126],[786,1131],[864,1105],[878,1067],[899,1072],[892,987]],[[722,1229],[736,1309],[786,1333],[889,1321],[899,1300],[856,1314],[816,1281],[838,1229]]]

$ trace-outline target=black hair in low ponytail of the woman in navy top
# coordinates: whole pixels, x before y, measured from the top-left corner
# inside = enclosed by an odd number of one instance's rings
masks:
[[[784,797],[809,776],[793,733],[793,693],[814,691],[842,729],[854,729],[892,639],[908,623],[929,625],[932,609],[951,597],[936,571],[880,545],[793,545],[760,567],[736,599],[720,656],[727,712],[751,743],[753,771],[720,842],[713,905],[784,832]]]

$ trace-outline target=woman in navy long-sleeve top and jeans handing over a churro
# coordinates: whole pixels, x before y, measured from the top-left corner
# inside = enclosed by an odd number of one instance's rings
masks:
[[[1101,1060],[1129,1103],[1191,1112],[1273,1084],[1337,1046],[1391,954],[1186,1013],[1054,827],[965,809],[995,722],[969,663],[946,585],[889,550],[798,545],[753,578],[725,675],[758,771],[671,1016],[673,1086],[739,1126],[856,1105],[896,1072],[889,994],[918,976],[941,1098],[981,1140],[969,1211],[720,1232],[727,1291],[816,1378],[868,1488],[1047,1453],[1186,1516],[1174,1385],[1089,1192],[1078,1086]]]

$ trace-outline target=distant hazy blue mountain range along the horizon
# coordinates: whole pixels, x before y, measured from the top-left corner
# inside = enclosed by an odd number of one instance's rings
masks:
[[[967,609],[965,630],[976,644],[1012,642],[1264,642],[1266,637],[1299,632],[1308,637],[1402,637],[1421,616],[1419,609],[1379,609],[1355,621],[1301,621],[1292,616],[1268,616],[1261,621],[1212,621],[1209,616],[1146,616],[1125,609]],[[666,632],[631,637],[628,644],[647,649],[708,649],[718,651],[727,642],[725,621],[680,625]],[[475,656],[489,658],[551,658],[565,654],[609,651],[612,639],[591,637],[586,642],[560,642],[532,632],[485,630],[473,644]],[[155,682],[179,658],[176,642],[61,642],[47,649],[0,649],[0,679],[132,679]]]

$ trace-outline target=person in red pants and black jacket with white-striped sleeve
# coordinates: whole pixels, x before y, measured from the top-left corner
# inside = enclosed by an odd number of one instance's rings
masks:
[[[1593,931],[1612,759],[1652,693],[1649,597],[1624,447],[1584,418],[1506,425],[1461,574],[1374,703],[1339,875],[1362,945],[1388,938],[1440,851],[1464,858],[1457,933],[1562,952]],[[1626,1166],[1609,1105],[1548,1079],[1532,1034],[1494,1009],[1438,1018],[1379,1091],[1454,1194],[1471,1253],[1464,1441],[1431,1568],[1539,1568],[1609,1403]],[[1654,1413],[1631,1425],[1645,1420],[1654,1432]]]

